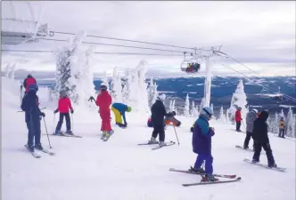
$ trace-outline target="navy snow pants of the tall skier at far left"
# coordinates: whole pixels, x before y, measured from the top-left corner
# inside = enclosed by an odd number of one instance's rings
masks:
[[[35,140],[35,145],[40,144],[40,135],[41,135],[41,127],[40,120],[28,121],[26,122],[28,128],[28,146],[33,146]]]

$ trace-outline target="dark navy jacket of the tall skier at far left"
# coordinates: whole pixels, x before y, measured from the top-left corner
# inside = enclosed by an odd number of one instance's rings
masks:
[[[25,94],[21,102],[21,109],[26,113],[26,122],[40,120],[41,111],[39,109],[38,96],[36,92],[28,92]]]

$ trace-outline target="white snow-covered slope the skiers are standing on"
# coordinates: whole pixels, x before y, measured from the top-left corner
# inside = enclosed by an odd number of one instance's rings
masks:
[[[103,199],[295,199],[295,141],[269,137],[275,162],[287,168],[275,172],[256,165],[246,164],[252,153],[234,148],[243,145],[244,133],[234,132],[234,125],[210,121],[216,129],[212,139],[214,172],[237,174],[242,180],[234,183],[182,187],[182,183],[200,181],[199,175],[169,172],[170,167],[188,169],[196,155],[192,151],[192,133],[195,118],[177,116],[182,122],[177,127],[180,146],[158,150],[151,146],[137,146],[150,139],[152,129],[146,126],[147,118],[140,113],[127,113],[127,129],[114,124],[115,133],[110,140],[100,140],[101,119],[97,110],[75,108],[73,131],[83,136],[65,138],[50,136],[56,153],[49,156],[37,153],[39,159],[29,155],[27,127],[20,110],[20,84],[2,77],[2,199],[3,200],[103,200]],[[46,106],[45,122],[53,132],[53,109],[43,95],[37,92],[41,107]],[[55,118],[57,123],[57,116]],[[42,133],[45,125],[42,121]],[[64,129],[65,123],[62,129]],[[176,140],[172,126],[166,130],[166,140]],[[45,135],[41,142],[48,148]],[[252,141],[251,141],[252,144]],[[251,146],[250,144],[250,146]],[[261,163],[267,163],[265,155]],[[223,180],[221,178],[221,180]]]

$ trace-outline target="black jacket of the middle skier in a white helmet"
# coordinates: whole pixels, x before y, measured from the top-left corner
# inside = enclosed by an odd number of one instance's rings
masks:
[[[164,126],[164,117],[172,116],[171,114],[167,113],[166,108],[164,107],[161,100],[155,101],[155,103],[152,105],[151,112],[151,120],[153,125]]]

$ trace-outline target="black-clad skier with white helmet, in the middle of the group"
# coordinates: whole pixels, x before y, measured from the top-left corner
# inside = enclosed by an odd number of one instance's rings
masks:
[[[164,116],[173,116],[171,113],[167,113],[166,108],[163,105],[163,101],[166,99],[166,95],[160,95],[155,103],[152,105],[152,124],[153,132],[151,140],[148,140],[148,144],[157,144],[157,135],[160,134],[160,146],[165,146],[165,132],[164,132]]]

